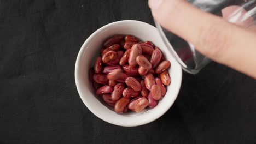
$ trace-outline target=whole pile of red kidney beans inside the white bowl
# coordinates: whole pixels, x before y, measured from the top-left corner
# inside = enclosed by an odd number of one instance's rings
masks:
[[[115,112],[153,109],[170,85],[170,62],[150,41],[133,35],[114,35],[104,41],[90,79],[97,95]]]

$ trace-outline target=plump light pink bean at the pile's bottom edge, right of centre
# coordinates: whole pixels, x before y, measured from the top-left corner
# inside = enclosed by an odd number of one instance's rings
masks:
[[[135,112],[141,112],[148,106],[148,100],[144,97],[138,97],[130,101],[128,104],[128,109],[135,111]]]

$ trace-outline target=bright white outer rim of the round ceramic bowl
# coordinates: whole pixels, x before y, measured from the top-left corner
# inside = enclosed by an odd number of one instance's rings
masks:
[[[80,63],[80,59],[82,58],[82,53],[84,51],[84,49],[86,48],[85,46],[89,43],[89,41],[91,39],[93,39],[95,37],[95,35],[97,35],[98,33],[100,33],[102,30],[108,28],[108,27],[111,27],[113,25],[118,25],[118,24],[121,24],[121,23],[129,23],[129,22],[134,22],[134,23],[141,23],[143,25],[149,25],[148,23],[146,22],[142,22],[142,21],[136,21],[136,20],[122,20],[122,21],[115,21],[115,22],[112,22],[112,23],[108,23],[107,25],[104,25],[102,26],[101,28],[98,28],[95,32],[93,32],[83,43],[83,45],[80,47],[80,50],[78,52],[78,55],[77,55],[77,59],[75,61],[75,71],[74,71],[74,77],[75,77],[75,86],[77,88],[77,91],[78,91],[78,94],[79,94],[79,97],[80,99],[82,99],[84,105],[90,110],[90,112],[92,112],[95,116],[97,116],[98,118],[102,119],[103,121],[105,122],[108,122],[108,123],[111,123],[111,124],[114,124],[114,125],[118,125],[118,126],[122,126],[122,127],[137,127],[139,125],[144,125],[144,124],[147,124],[147,123],[150,123],[150,122],[153,122],[155,121],[156,119],[158,119],[159,117],[161,117],[162,115],[164,115],[170,108],[171,106],[173,105],[174,101],[176,101],[177,97],[178,97],[178,93],[181,89],[181,83],[182,83],[182,68],[181,68],[181,65],[179,65],[179,67],[176,68],[176,70],[178,71],[178,73],[180,74],[179,76],[180,77],[177,77],[177,79],[180,79],[180,81],[178,81],[176,83],[176,86],[177,86],[177,91],[176,93],[174,93],[175,95],[173,96],[174,100],[173,101],[170,101],[170,106],[167,107],[167,109],[164,109],[162,110],[162,112],[159,112],[159,113],[156,113],[156,115],[150,119],[147,119],[147,121],[141,121],[141,122],[136,122],[136,123],[130,123],[130,124],[123,124],[123,123],[118,123],[118,122],[114,122],[114,121],[109,121],[108,119],[104,118],[104,116],[100,116],[98,115],[98,113],[92,109],[92,107],[86,103],[86,100],[82,97],[82,92],[79,88],[79,84],[78,84],[78,65]],[[149,25],[151,27],[154,27],[152,25]],[[156,29],[156,27],[154,27]]]

